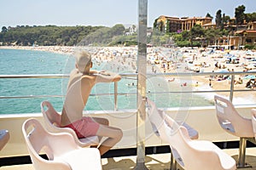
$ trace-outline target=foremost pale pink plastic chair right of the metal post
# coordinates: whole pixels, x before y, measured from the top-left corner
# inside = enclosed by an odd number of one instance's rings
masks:
[[[190,139],[188,130],[165,116],[166,135],[173,155],[184,169],[236,169],[236,161],[207,140]]]

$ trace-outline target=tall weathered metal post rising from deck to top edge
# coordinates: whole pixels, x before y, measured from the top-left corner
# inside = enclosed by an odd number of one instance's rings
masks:
[[[145,117],[146,117],[146,75],[147,75],[147,20],[148,0],[138,0],[138,39],[137,39],[137,165],[135,169],[148,169],[145,166]]]

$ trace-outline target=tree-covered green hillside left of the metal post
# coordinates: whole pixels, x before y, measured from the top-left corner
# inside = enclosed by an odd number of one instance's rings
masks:
[[[74,46],[94,43],[125,43],[134,36],[124,37],[125,26],[3,26],[0,45]],[[135,37],[136,40],[136,37]]]

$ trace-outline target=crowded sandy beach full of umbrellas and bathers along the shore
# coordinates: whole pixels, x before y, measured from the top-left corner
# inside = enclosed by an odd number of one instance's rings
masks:
[[[76,47],[44,46],[44,47],[3,47],[24,50],[39,50],[58,54],[73,54]],[[112,62],[106,68],[119,73],[135,72],[137,69],[137,48],[136,47],[104,47],[87,48],[92,54],[96,65],[102,65],[102,62]],[[249,81],[246,77],[247,71],[256,71],[256,52],[250,50],[213,50],[212,48],[148,48],[148,72],[149,73],[167,73],[167,72],[228,72],[244,71],[244,75],[236,75],[235,89],[248,89],[246,84]],[[255,59],[255,61],[254,61]],[[152,69],[151,69],[152,68]],[[230,77],[190,77],[192,82],[185,85],[201,90],[230,90]],[[172,83],[174,78],[168,79]],[[210,81],[211,80],[211,81]],[[241,81],[241,82],[238,82]],[[186,88],[186,87],[184,87]],[[213,95],[213,94],[212,94]],[[220,95],[229,96],[229,93]],[[256,102],[256,93],[236,92],[234,99],[237,103],[247,102],[247,100]],[[234,101],[234,100],[233,100]]]

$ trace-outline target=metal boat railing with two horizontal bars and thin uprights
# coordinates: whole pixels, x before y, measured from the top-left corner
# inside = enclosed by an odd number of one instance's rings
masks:
[[[185,73],[185,72],[177,72],[177,73],[156,73],[156,74],[147,74],[147,78],[149,77],[201,77],[201,76],[220,76],[220,75],[230,75],[231,83],[230,90],[201,90],[201,91],[169,91],[169,92],[150,92],[150,94],[179,94],[179,93],[223,93],[230,92],[230,100],[233,99],[234,92],[252,92],[254,89],[234,89],[234,78],[235,75],[256,75],[256,71],[237,71],[237,72],[198,72],[198,73]],[[137,73],[122,73],[120,74],[122,78],[129,79],[129,77],[133,77],[134,80],[137,80]],[[31,74],[31,75],[0,75],[0,79],[16,79],[16,78],[68,78],[68,74]],[[134,78],[136,77],[136,78]],[[114,110],[117,110],[117,96],[118,95],[126,95],[125,93],[118,93],[118,82],[114,82]],[[127,93],[136,95],[137,93]],[[90,94],[90,96],[100,96],[100,95],[109,95],[108,94]],[[26,99],[26,98],[46,98],[46,97],[64,97],[65,95],[28,95],[28,96],[0,96],[0,99]]]

